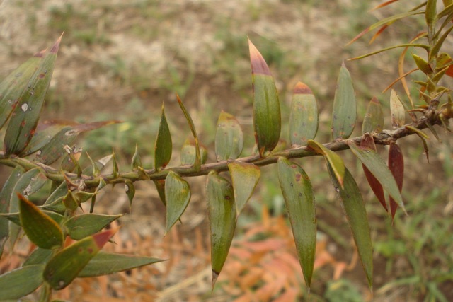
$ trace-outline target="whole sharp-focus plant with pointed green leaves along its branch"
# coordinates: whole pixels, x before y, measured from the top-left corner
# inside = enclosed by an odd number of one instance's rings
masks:
[[[391,2],[394,1],[388,1],[382,6]],[[402,81],[408,100],[399,98],[392,91],[389,103],[394,129],[384,129],[383,110],[379,100],[373,98],[363,120],[362,136],[350,138],[357,124],[357,102],[350,73],[343,64],[333,101],[332,141],[321,144],[314,140],[319,127],[316,98],[308,86],[299,82],[294,88],[291,114],[286,117],[289,119],[291,148],[281,149],[282,116],[277,88],[265,59],[249,41],[253,129],[257,154],[240,157],[244,139],[241,126],[233,115],[222,112],[215,136],[217,163],[205,163],[208,150],[200,144],[193,120],[177,95],[178,104],[193,136],[183,146],[181,165],[167,167],[173,144],[163,105],[154,144],[154,168],[143,168],[136,149],[132,157],[132,168],[127,172],[120,172],[115,153],[98,161],[94,161],[86,153],[91,165],[82,168],[81,149],[74,146],[78,134],[116,121],[88,124],[61,121],[38,123],[55,66],[60,37],[49,50],[36,54],[0,83],[0,126],[5,128],[4,151],[0,153],[0,163],[13,168],[0,192],[0,251],[3,252],[7,240],[13,247],[21,230],[38,247],[28,255],[22,267],[0,276],[0,299],[21,298],[42,286],[40,299],[50,301],[52,291],[63,289],[76,277],[111,274],[161,261],[152,257],[101,251],[117,231],[102,230],[121,215],[95,214],[96,194],[107,185],[122,184],[132,204],[134,182],[153,180],[166,205],[168,232],[180,220],[190,202],[190,186],[184,178],[199,175],[207,175],[206,198],[214,287],[228,256],[239,214],[260,178],[260,167],[273,164],[292,226],[305,283],[310,286],[316,250],[316,203],[309,175],[299,163],[292,161],[294,158],[310,156],[323,156],[325,159],[326,169],[351,228],[367,283],[372,289],[373,250],[365,204],[355,179],[336,151],[350,149],[360,160],[370,187],[392,219],[398,207],[403,212],[406,212],[406,208],[411,209],[410,205],[405,207],[401,197],[403,156],[396,141],[416,134],[422,140],[428,156],[425,142],[427,135],[422,130],[428,128],[438,137],[434,126],[440,125],[449,130],[449,119],[453,117],[450,89],[439,84],[444,76],[453,74],[452,59],[446,52],[441,52],[443,43],[453,30],[453,25],[450,25],[453,4],[452,1],[443,2],[445,8],[440,12],[436,10],[437,1],[427,1],[408,13],[375,23],[354,39],[379,28],[374,39],[401,18],[425,16],[426,32],[419,33],[407,44],[379,51],[404,48],[399,62],[401,77],[398,80]],[[426,42],[418,42],[422,39]],[[402,66],[408,47],[425,50],[426,55],[413,54],[416,68],[405,73]],[[362,57],[375,53],[378,52]],[[417,106],[404,81],[405,76],[416,70],[424,74],[424,80],[415,81],[415,85],[418,86],[420,100],[425,102]],[[179,86],[181,81],[176,80]],[[406,112],[412,119],[410,124],[405,122]],[[377,154],[377,145],[389,145],[388,164]],[[51,165],[56,166],[55,163],[60,158],[62,161],[59,167],[52,167]],[[113,172],[101,173],[101,169],[109,162]],[[42,187],[50,187],[47,199],[36,204],[31,202],[28,197],[33,197]],[[389,194],[388,204],[384,192]],[[79,208],[85,202],[91,202],[90,212],[79,214]],[[408,228],[408,237],[410,229]],[[68,245],[65,243],[67,237],[76,242]],[[395,249],[395,246],[380,246],[378,250],[386,255],[386,250],[389,249]],[[417,270],[416,262],[413,262],[413,267]],[[449,278],[447,274],[432,273],[433,279]],[[421,282],[423,276],[420,276],[409,281]],[[350,287],[348,284],[340,286]],[[328,294],[333,295],[335,288],[335,285],[331,285]],[[434,282],[429,282],[426,288],[432,297],[441,297]],[[357,296],[352,290],[348,292],[350,296]]]

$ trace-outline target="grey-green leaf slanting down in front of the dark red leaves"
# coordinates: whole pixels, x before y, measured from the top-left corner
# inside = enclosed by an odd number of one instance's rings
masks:
[[[376,151],[367,147],[357,146],[354,143],[349,144],[349,147],[352,153],[354,153],[354,155],[359,158],[359,160],[368,168],[374,177],[379,180],[382,187],[384,187],[384,190],[386,190],[386,192],[396,200],[403,211],[406,211],[404,209],[403,198],[398,190],[395,178],[391,174],[391,171],[387,167],[386,163],[376,153]]]

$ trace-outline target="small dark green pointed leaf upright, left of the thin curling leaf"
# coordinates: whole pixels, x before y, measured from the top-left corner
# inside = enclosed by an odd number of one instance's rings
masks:
[[[161,123],[159,124],[159,132],[154,145],[154,168],[161,170],[168,165],[171,159],[171,151],[173,145],[171,143],[170,129],[164,112],[164,103],[162,103]]]

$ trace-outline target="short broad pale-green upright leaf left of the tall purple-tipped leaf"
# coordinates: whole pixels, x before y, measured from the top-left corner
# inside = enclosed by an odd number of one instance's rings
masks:
[[[215,157],[217,161],[236,159],[243,149],[243,132],[236,117],[220,112],[215,133]]]

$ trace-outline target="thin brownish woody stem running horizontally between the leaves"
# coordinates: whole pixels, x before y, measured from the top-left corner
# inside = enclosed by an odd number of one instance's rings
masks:
[[[427,110],[428,111],[428,110]],[[413,130],[408,129],[406,126],[411,126],[416,129],[425,129],[428,127],[428,122],[430,124],[442,124],[440,120],[440,112],[432,110],[432,112],[428,112],[430,114],[426,114],[425,116],[421,117],[420,120],[417,122],[413,122],[411,124],[406,124],[403,127],[394,130],[383,130],[379,134],[374,134],[374,142],[375,144],[380,145],[389,145],[394,144],[398,139],[403,137],[407,137],[411,134],[416,134]],[[429,118],[428,118],[428,117]],[[340,141],[333,141],[331,143],[324,144],[327,149],[332,151],[342,151],[349,149],[348,141],[353,141],[355,144],[360,144],[362,141],[362,137],[355,137],[352,139],[343,139]],[[254,156],[246,156],[243,158],[238,158],[236,161],[241,161],[243,163],[253,163],[254,165],[263,166],[263,165],[270,165],[276,163],[280,156],[285,158],[302,158],[308,156],[317,156],[315,151],[309,149],[307,146],[297,146],[292,149],[286,149],[283,151],[277,151],[275,153],[270,153],[270,155],[261,158],[259,155]],[[173,168],[167,168],[165,170],[156,171],[155,169],[150,170],[139,170],[139,171],[130,171],[126,173],[120,173],[119,175],[115,176],[113,174],[108,175],[98,175],[98,176],[88,176],[88,175],[81,175],[79,178],[81,181],[84,182],[84,185],[87,189],[94,189],[99,185],[101,178],[110,185],[114,185],[117,183],[125,183],[128,182],[136,182],[139,180],[162,180],[166,178],[166,175],[169,171],[173,171],[178,173],[182,177],[193,177],[193,176],[200,176],[200,175],[207,175],[210,171],[217,171],[223,172],[228,170],[228,164],[231,163],[230,161],[219,161],[218,163],[207,163],[205,165],[201,165],[200,169],[195,169],[193,166],[178,166]],[[25,170],[30,170],[32,168],[40,167],[43,172],[45,173],[46,177],[55,182],[63,182],[64,175],[61,171],[50,167],[49,165],[43,165],[42,163],[35,163],[33,161],[29,161],[25,158],[18,158],[11,157],[11,158],[4,158],[4,154],[0,153],[0,164],[8,165],[11,167],[21,166]],[[70,180],[76,181],[77,175],[75,173],[65,173],[67,178]]]

